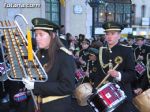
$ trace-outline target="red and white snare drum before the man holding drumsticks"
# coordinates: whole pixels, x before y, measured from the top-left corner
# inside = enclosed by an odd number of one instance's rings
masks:
[[[112,112],[125,98],[119,85],[107,83],[88,99],[88,103],[95,112]]]

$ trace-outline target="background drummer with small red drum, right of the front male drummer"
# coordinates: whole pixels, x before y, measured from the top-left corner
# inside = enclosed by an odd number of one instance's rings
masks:
[[[143,91],[149,88],[146,64],[147,64],[147,54],[150,53],[150,47],[144,44],[144,40],[145,39],[143,36],[136,36],[137,47],[134,49],[134,56],[137,64],[136,71],[137,71],[138,79],[134,83],[135,95],[139,95]]]

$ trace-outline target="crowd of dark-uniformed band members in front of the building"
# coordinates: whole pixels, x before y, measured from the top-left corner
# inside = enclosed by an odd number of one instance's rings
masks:
[[[124,26],[116,22],[104,23],[102,27],[105,35],[90,40],[84,34],[74,37],[71,33],[65,33],[64,25],[60,29],[44,18],[34,18],[32,24],[37,46],[35,52],[45,68],[48,81],[1,81],[0,111],[93,112],[95,108],[104,107],[93,107],[90,103],[79,105],[74,94],[76,88],[89,83],[92,92],[87,100],[90,102],[91,96],[99,94],[99,84],[109,75],[102,85],[115,83],[126,96],[114,107],[113,112],[139,112],[132,100],[149,88],[149,70],[146,65],[150,58],[150,43],[144,36],[129,34],[126,40],[121,41]],[[1,59],[3,62],[3,57]],[[139,67],[142,68],[139,70]],[[37,99],[40,98],[38,108],[35,108],[30,95],[25,101],[14,101],[15,94],[28,90],[33,90]],[[6,99],[8,101],[4,101]],[[9,104],[8,108],[5,108],[6,103]]]

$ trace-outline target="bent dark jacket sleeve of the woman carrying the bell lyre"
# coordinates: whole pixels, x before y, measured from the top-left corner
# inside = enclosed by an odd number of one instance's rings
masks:
[[[75,87],[75,66],[73,57],[61,53],[54,67],[48,73],[48,81],[35,83],[34,91],[41,96],[60,96],[72,94]]]

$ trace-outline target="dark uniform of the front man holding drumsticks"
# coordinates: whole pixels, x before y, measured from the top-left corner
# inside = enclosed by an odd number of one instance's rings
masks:
[[[130,112],[132,110],[132,89],[131,89],[131,82],[136,79],[134,66],[135,60],[133,51],[131,47],[127,47],[124,45],[117,44],[111,51],[108,49],[104,49],[102,51],[102,60],[104,64],[108,64],[109,60],[112,60],[113,67],[116,65],[115,60],[117,58],[122,58],[122,63],[116,68],[117,71],[121,73],[121,81],[116,81],[115,78],[111,76],[108,78],[108,81],[115,82],[120,86],[120,89],[125,92],[127,96],[126,101],[121,104],[115,111],[113,112]],[[101,65],[101,64],[100,64]],[[101,70],[99,74],[95,77],[95,84],[97,85],[98,82],[101,82],[104,77],[107,75],[107,71],[109,67],[103,68],[101,65]]]

